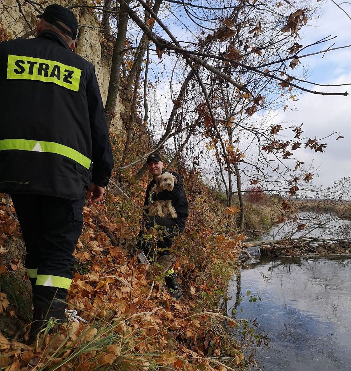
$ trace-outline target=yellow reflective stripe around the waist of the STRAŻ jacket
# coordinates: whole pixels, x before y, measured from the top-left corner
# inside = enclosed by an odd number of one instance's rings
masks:
[[[62,155],[78,162],[85,168],[90,168],[90,158],[66,145],[55,142],[43,142],[30,139],[2,139],[0,140],[0,151],[3,150],[22,150],[36,152],[50,152]]]

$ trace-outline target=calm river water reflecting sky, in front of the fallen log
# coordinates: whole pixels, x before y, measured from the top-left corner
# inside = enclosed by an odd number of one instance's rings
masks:
[[[227,308],[257,319],[257,333],[271,339],[256,350],[261,370],[351,371],[351,257],[250,253],[230,283]],[[248,291],[257,301],[249,302]]]

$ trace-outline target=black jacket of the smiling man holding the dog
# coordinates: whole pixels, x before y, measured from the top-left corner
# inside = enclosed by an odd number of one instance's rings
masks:
[[[163,173],[165,173],[165,171],[162,171],[162,174]],[[187,196],[184,192],[183,180],[181,176],[174,171],[167,171],[167,173],[175,175],[178,179],[178,183],[174,184],[173,191],[158,192],[157,196],[153,198],[154,200],[171,200],[174,210],[176,210],[178,215],[178,219],[185,220],[189,216],[189,206]],[[147,186],[144,206],[148,205],[150,190],[155,184],[156,181],[153,179]]]

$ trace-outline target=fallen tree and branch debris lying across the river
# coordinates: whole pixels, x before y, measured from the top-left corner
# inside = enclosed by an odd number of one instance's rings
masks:
[[[260,247],[261,255],[301,256],[305,254],[351,253],[351,241],[337,238],[300,237],[296,239],[259,240],[244,246]]]

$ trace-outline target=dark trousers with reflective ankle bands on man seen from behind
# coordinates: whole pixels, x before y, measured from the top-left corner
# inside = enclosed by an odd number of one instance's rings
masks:
[[[66,300],[74,265],[73,251],[83,226],[84,197],[72,201],[41,195],[11,195],[26,244],[26,269],[33,302]]]

